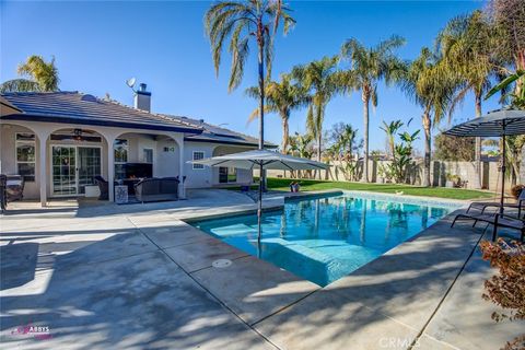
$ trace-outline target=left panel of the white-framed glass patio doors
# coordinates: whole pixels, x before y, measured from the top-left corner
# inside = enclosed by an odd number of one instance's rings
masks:
[[[77,149],[74,145],[52,147],[52,195],[77,195]]]

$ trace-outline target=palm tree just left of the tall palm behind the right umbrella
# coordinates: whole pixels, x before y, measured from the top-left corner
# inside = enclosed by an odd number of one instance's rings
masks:
[[[444,72],[439,57],[427,47],[411,62],[404,78],[405,93],[423,108],[421,116],[424,130],[423,186],[430,186],[431,129],[440,124],[455,91],[455,81]]]

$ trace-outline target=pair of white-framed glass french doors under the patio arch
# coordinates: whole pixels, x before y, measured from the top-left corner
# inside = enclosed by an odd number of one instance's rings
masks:
[[[52,145],[51,173],[52,196],[83,195],[102,174],[101,148]]]

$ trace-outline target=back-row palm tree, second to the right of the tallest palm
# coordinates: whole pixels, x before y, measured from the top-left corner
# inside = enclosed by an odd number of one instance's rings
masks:
[[[293,77],[306,91],[312,91],[312,101],[308,106],[306,127],[313,138],[317,140],[317,161],[320,162],[323,152],[323,121],[328,102],[338,91],[336,67],[337,57],[324,57],[320,60],[305,66],[293,68]],[[320,178],[320,172],[319,172]]]

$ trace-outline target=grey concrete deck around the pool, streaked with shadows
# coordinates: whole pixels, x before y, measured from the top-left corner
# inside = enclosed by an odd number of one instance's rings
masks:
[[[483,229],[444,218],[326,288],[183,219],[255,209],[233,191],[152,205],[21,206],[1,218],[0,341],[20,349],[499,349]],[[273,198],[267,208],[282,205]],[[481,226],[481,225],[480,225]],[[217,259],[230,259],[214,268]],[[452,288],[451,288],[452,285]],[[50,339],[16,334],[32,323]],[[490,336],[488,336],[490,335]]]

